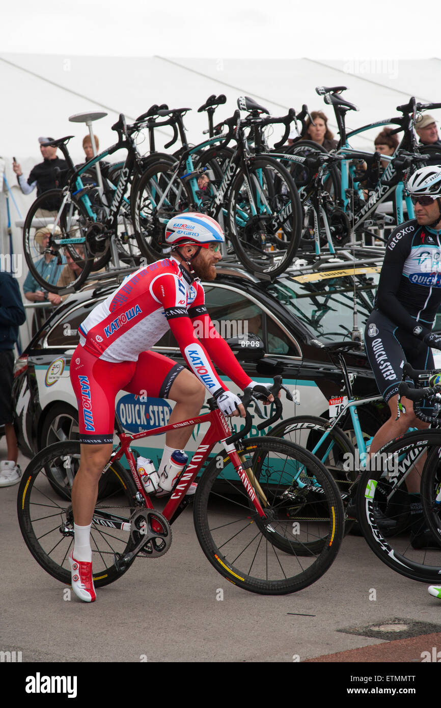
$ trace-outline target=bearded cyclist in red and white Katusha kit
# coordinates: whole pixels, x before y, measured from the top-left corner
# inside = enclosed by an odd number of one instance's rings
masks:
[[[199,278],[214,280],[214,265],[224,234],[211,217],[185,213],[166,227],[171,256],[139,268],[122,282],[79,326],[80,343],[71,359],[70,377],[79,409],[81,463],[72,486],[74,550],[69,557],[72,588],[86,602],[96,599],[91,570],[90,530],[98,496],[98,481],[110,459],[115,421],[115,397],[120,390],[176,401],[168,423],[193,418],[208,390],[225,415],[245,415],[236,394],[229,391],[214,362],[240,389],[260,387],[237,362],[214,329],[205,307]],[[202,324],[197,338],[193,326]],[[190,370],[150,351],[171,329]],[[193,428],[166,434],[159,477],[174,450],[185,447]],[[190,488],[189,493],[194,493]]]

